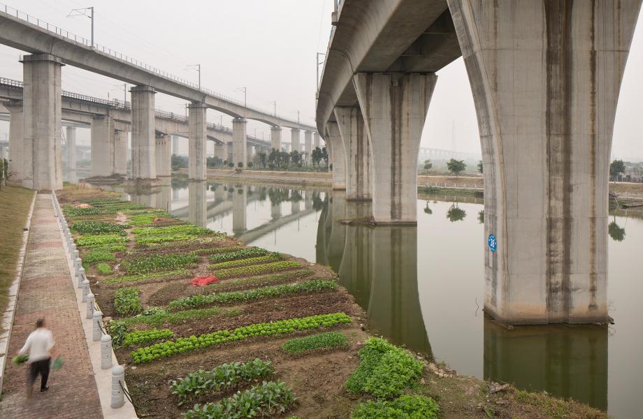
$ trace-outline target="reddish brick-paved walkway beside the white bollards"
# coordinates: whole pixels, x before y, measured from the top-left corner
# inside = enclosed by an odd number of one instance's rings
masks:
[[[0,418],[103,418],[62,237],[48,193],[36,197],[31,219],[31,234],[9,341],[12,358],[41,316],[48,321],[65,365],[51,372],[48,392],[38,392],[38,378],[34,397],[27,401],[27,367],[9,364],[0,401]]]

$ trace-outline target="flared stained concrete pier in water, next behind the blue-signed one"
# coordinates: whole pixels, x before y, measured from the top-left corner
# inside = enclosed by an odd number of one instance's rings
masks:
[[[417,222],[417,157],[424,119],[438,77],[433,74],[354,76],[359,107],[373,150],[373,218]]]

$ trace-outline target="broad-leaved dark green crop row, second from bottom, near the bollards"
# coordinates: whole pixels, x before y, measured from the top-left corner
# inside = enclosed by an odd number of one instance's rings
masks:
[[[183,378],[173,380],[170,389],[172,394],[178,397],[181,405],[200,395],[236,388],[252,380],[269,378],[273,374],[273,363],[257,358],[249,362],[222,364],[209,371],[199,369]]]

